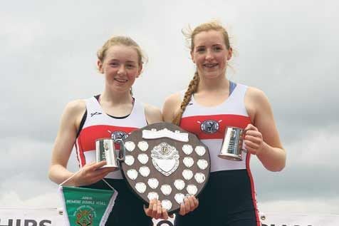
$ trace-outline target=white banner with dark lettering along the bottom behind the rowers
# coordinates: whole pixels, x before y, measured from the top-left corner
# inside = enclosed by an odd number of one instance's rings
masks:
[[[0,226],[63,226],[62,210],[0,207]],[[155,226],[173,226],[173,219],[154,220]],[[135,222],[137,226],[137,222]],[[339,215],[261,214],[262,226],[336,226]],[[94,226],[94,225],[93,225]],[[143,226],[143,225],[140,225]]]

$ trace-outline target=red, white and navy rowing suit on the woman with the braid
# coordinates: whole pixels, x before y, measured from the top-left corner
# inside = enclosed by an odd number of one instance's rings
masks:
[[[183,217],[177,215],[176,225],[261,225],[254,181],[249,170],[251,155],[243,152],[241,161],[218,157],[226,127],[246,128],[251,123],[244,104],[246,91],[247,86],[230,81],[231,94],[218,106],[201,106],[194,96],[187,104],[180,127],[196,134],[207,145],[211,173],[199,195],[197,210]]]

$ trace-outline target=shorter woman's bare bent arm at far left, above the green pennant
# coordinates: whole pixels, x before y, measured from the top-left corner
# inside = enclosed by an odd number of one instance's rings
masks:
[[[60,128],[54,142],[51,165],[48,171],[48,177],[55,183],[60,184],[74,174],[67,170],[67,163],[83,113],[85,113],[85,102],[73,101],[68,103],[61,116]],[[85,165],[82,172],[69,180],[66,185],[80,186],[95,183],[107,175],[108,169],[97,170],[103,165],[105,165],[105,162]]]

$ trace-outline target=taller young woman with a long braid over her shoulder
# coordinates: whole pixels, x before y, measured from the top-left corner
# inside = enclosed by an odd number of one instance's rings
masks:
[[[197,72],[187,91],[167,98],[162,113],[165,121],[195,133],[209,147],[211,173],[199,206],[177,215],[175,225],[260,225],[250,157],[256,155],[271,171],[282,170],[286,162],[271,106],[259,89],[226,78],[232,48],[221,24],[201,24],[188,38]],[[218,157],[229,126],[245,131],[241,161]]]

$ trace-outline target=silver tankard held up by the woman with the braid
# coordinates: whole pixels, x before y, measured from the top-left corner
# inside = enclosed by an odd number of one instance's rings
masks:
[[[219,158],[241,161],[241,153],[246,151],[243,148],[244,130],[237,127],[227,127],[224,140],[221,145]]]

